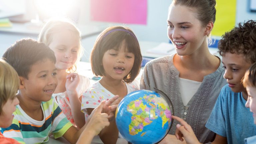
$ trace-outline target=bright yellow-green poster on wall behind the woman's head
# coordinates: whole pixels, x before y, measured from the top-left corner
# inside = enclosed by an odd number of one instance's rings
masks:
[[[216,0],[216,3],[216,20],[212,35],[222,36],[235,26],[236,0]]]

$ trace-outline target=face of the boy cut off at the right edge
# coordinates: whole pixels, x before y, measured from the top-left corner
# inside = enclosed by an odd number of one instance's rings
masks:
[[[250,111],[253,113],[254,124],[256,124],[256,88],[247,86],[246,91],[248,93],[248,99],[245,106],[250,108]]]

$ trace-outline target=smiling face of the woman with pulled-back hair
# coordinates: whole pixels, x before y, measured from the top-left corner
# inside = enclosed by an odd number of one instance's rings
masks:
[[[205,27],[196,13],[186,6],[172,5],[168,14],[168,37],[178,55],[190,55],[205,42]]]

